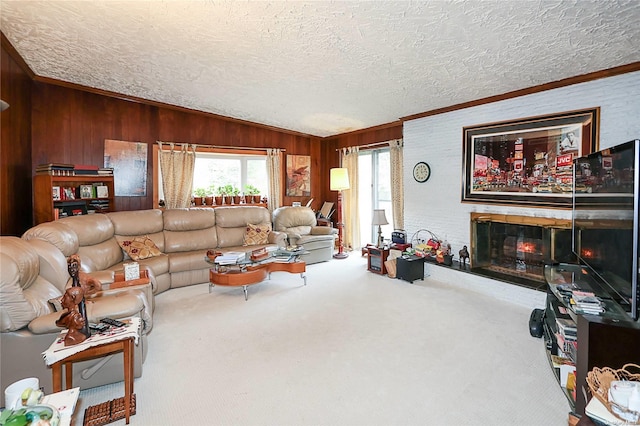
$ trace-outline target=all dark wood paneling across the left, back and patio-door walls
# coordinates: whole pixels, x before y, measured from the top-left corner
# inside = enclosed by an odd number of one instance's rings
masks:
[[[285,155],[311,156],[311,196],[287,197],[318,209],[336,202],[329,190],[329,169],[338,167],[337,148],[402,137],[400,122],[319,138],[184,108],[128,99],[116,94],[36,77],[2,35],[2,98],[11,108],[2,113],[0,209],[2,235],[21,235],[33,225],[31,184],[43,163],[103,164],[104,141],[115,139],[149,145],[147,195],[116,197],[117,210],[153,207],[152,146],[156,141],[200,145],[281,148]],[[286,157],[283,158],[283,168]],[[283,188],[285,174],[281,176]]]

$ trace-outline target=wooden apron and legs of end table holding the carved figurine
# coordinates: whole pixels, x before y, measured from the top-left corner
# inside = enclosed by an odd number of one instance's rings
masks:
[[[114,342],[92,346],[73,355],[61,359],[51,364],[53,374],[53,391],[62,391],[62,367],[64,366],[65,384],[67,389],[73,386],[73,363],[99,358],[105,355],[122,352],[124,356],[124,412],[127,424],[131,411],[131,401],[133,394],[133,346],[134,338],[128,337]]]

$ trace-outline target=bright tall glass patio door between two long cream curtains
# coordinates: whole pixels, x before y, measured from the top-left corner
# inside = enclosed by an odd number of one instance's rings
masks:
[[[390,239],[393,231],[393,210],[389,148],[359,152],[358,189],[360,235],[363,245],[367,242],[375,243],[378,239],[378,227],[371,224],[374,209],[384,209],[389,224],[382,226],[382,235],[385,239]]]

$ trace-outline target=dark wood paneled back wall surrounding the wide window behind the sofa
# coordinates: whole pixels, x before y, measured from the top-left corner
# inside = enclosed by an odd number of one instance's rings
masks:
[[[54,84],[34,83],[32,168],[50,162],[102,165],[105,139],[149,145],[147,196],[116,197],[117,210],[153,207],[155,171],[152,169],[151,155],[156,141],[282,148],[287,155],[310,155],[313,164],[311,198],[323,198],[318,138],[279,132],[211,114],[117,99]],[[293,201],[306,203],[308,197],[283,198],[284,205],[290,205]]]

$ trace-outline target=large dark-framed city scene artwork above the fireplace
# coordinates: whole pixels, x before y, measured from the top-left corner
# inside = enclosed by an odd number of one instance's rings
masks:
[[[600,108],[463,128],[462,201],[570,208],[573,159],[598,149]]]

